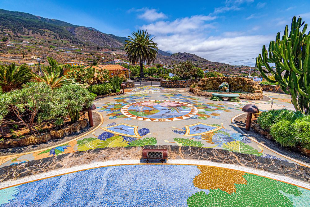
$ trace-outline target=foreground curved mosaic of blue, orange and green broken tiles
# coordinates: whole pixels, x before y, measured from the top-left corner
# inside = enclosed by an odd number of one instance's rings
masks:
[[[5,188],[0,190],[0,205],[309,206],[310,190],[219,167],[121,165]]]

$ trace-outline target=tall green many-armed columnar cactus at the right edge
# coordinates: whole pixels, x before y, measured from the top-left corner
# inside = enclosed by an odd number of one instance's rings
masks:
[[[262,54],[256,58],[256,65],[267,81],[278,82],[282,90],[290,94],[297,111],[310,114],[310,32],[305,34],[306,30],[307,24],[294,16],[290,33],[286,25],[281,40],[278,32],[276,41],[269,43],[268,51],[264,45]],[[276,68],[270,67],[269,63],[274,63]],[[268,73],[275,80],[269,79]]]

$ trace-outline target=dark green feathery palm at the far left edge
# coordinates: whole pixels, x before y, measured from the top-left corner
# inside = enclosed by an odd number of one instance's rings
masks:
[[[21,84],[29,81],[31,77],[31,68],[28,65],[16,66],[0,65],[0,86],[3,92],[8,92],[13,89],[20,88]]]

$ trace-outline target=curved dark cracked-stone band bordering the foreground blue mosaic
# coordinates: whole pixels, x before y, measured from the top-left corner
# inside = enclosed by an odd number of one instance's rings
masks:
[[[13,164],[0,168],[0,182],[25,178],[51,170],[68,169],[78,165],[92,164],[98,161],[140,160],[144,148],[167,149],[168,159],[205,160],[215,163],[234,164],[236,166],[288,176],[303,182],[310,182],[310,168],[299,164],[228,150],[172,145],[108,147],[49,156],[40,160],[31,160],[26,163]],[[142,161],[145,162],[145,160]]]

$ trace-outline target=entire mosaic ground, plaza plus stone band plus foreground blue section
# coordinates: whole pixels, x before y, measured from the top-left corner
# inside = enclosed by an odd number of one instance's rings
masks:
[[[249,103],[293,109],[289,96],[264,93],[272,100],[231,103],[186,90],[126,89],[95,101],[101,122],[90,132],[0,157],[0,205],[310,205],[309,165],[269,149],[234,123]],[[168,148],[167,162],[143,163],[140,146],[146,145]]]

